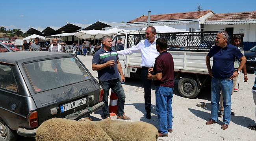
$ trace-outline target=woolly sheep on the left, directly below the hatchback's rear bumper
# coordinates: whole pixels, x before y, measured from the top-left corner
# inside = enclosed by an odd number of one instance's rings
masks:
[[[113,141],[94,122],[61,118],[52,118],[43,122],[37,128],[35,139],[36,141]]]

